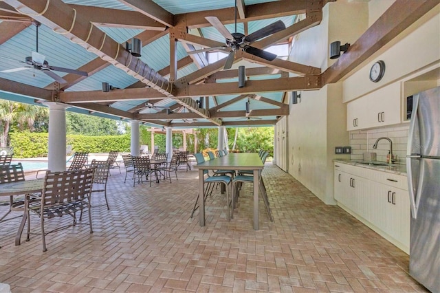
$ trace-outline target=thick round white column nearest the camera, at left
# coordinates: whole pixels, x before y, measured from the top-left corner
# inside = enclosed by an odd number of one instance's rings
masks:
[[[66,109],[61,102],[44,102],[49,107],[48,169],[66,171]]]

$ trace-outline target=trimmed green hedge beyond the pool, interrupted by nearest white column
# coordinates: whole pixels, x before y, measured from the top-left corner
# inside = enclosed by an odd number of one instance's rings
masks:
[[[16,158],[36,158],[47,155],[48,133],[23,131],[10,133],[10,146]],[[130,134],[85,136],[67,135],[66,144],[72,144],[73,151],[108,153],[109,151],[129,151]]]

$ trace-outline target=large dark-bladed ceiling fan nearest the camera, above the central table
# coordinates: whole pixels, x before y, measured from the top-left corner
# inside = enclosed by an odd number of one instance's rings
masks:
[[[245,36],[240,32],[236,32],[236,0],[235,0],[235,32],[232,34],[225,28],[225,25],[221,23],[221,21],[217,17],[205,17],[205,19],[216,28],[226,39],[226,47],[211,47],[202,50],[195,50],[192,52],[188,52],[188,54],[195,54],[199,52],[213,51],[213,50],[222,50],[230,48],[230,53],[228,58],[226,59],[225,65],[223,69],[230,69],[232,67],[232,63],[234,63],[235,52],[236,50],[243,50],[244,52],[248,52],[249,54],[258,56],[267,61],[272,61],[276,58],[276,54],[272,54],[265,50],[261,50],[257,47],[250,46],[254,41],[258,41],[259,39],[263,39],[265,36],[270,36],[276,32],[280,32],[281,30],[285,30],[285,24],[283,21],[278,20],[270,25],[261,28],[260,30],[256,30],[252,32],[252,34],[248,34]]]

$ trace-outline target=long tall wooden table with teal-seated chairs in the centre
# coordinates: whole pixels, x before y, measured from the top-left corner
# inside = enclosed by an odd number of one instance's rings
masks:
[[[264,164],[258,153],[228,153],[194,166],[199,169],[199,225],[205,226],[204,170],[251,170],[259,178]],[[254,182],[254,230],[259,230],[259,184]]]

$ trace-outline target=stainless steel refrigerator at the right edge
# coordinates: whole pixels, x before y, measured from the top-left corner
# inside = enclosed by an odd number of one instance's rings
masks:
[[[410,275],[440,292],[440,87],[413,96],[410,119]]]

